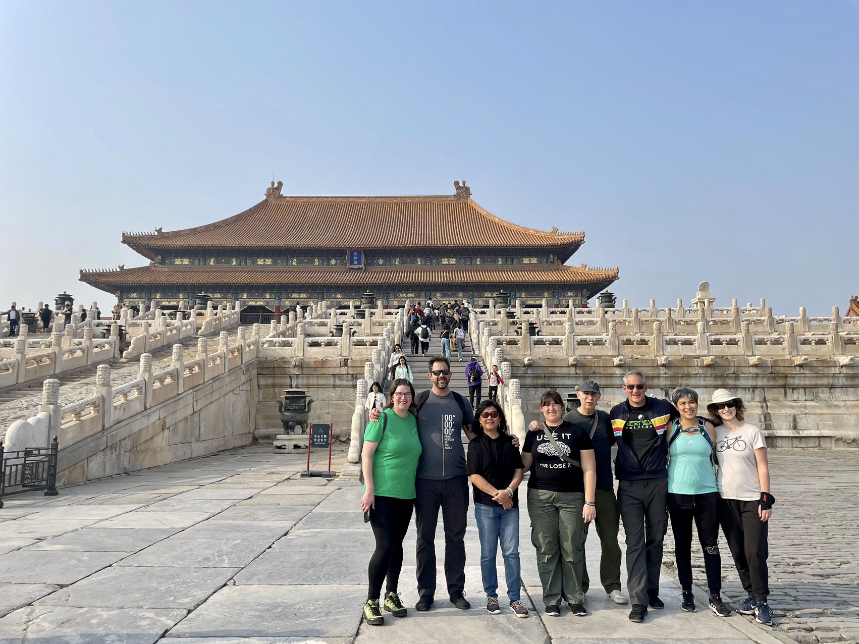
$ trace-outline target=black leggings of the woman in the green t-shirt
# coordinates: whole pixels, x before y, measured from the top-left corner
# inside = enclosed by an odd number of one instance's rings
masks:
[[[376,549],[370,557],[368,599],[378,599],[381,582],[387,577],[385,594],[397,592],[399,571],[403,568],[403,539],[409,529],[414,499],[376,496],[375,508],[370,510],[370,526],[376,539]]]

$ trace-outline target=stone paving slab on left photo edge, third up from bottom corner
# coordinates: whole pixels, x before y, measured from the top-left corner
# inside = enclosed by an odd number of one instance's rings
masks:
[[[118,562],[124,552],[15,550],[0,556],[0,580],[65,586]]]

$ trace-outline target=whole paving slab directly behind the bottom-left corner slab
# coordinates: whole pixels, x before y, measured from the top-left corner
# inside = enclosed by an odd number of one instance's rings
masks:
[[[40,599],[36,605],[191,610],[221,588],[237,570],[113,566]]]

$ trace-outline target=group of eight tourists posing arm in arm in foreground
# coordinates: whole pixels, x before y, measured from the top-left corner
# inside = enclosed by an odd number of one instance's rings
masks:
[[[650,398],[644,375],[631,371],[624,376],[626,399],[606,413],[597,410],[599,384],[586,380],[578,387],[579,407],[566,413],[558,392],[544,392],[539,401],[542,418],[529,424],[520,446],[510,435],[496,399],[479,402],[472,413],[472,405],[450,390],[448,357],[430,359],[428,377],[432,388],[417,398],[412,381],[405,379],[393,380],[387,404],[378,402],[382,395],[378,383],[373,404],[368,398],[361,507],[376,545],[363,609],[367,623],[383,623],[382,611],[395,617],[407,614],[398,582],[412,512],[417,526],[415,608],[429,611],[435,602],[440,509],[448,598],[457,608],[471,607],[463,592],[468,481],[486,611],[501,612],[496,569],[500,544],[509,610],[515,617],[528,617],[521,603],[518,490],[527,471],[531,542],[546,616],[559,616],[563,603],[576,617],[588,614],[585,541],[591,524],[600,538],[600,584],[612,602],[631,602],[629,618],[636,623],[644,621],[649,609],[664,608],[659,579],[670,519],[682,610],[697,610],[691,591],[694,523],[704,555],[710,610],[719,617],[731,614],[720,595],[721,526],[747,594],[737,612],[772,624],[766,560],[768,520],[775,499],[764,435],[745,422],[740,398],[728,390],[716,390],[707,416],[698,416],[698,393],[693,389],[674,390],[670,401]],[[471,441],[467,459],[463,431]],[[613,446],[617,456],[612,478]],[[621,521],[629,599],[620,583]]]

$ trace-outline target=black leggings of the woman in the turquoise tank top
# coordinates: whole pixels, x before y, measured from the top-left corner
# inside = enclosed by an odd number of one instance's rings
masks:
[[[680,588],[692,589],[692,520],[704,550],[704,571],[711,595],[722,592],[722,557],[719,555],[718,492],[703,495],[668,493],[668,516],[674,533],[674,560]]]

